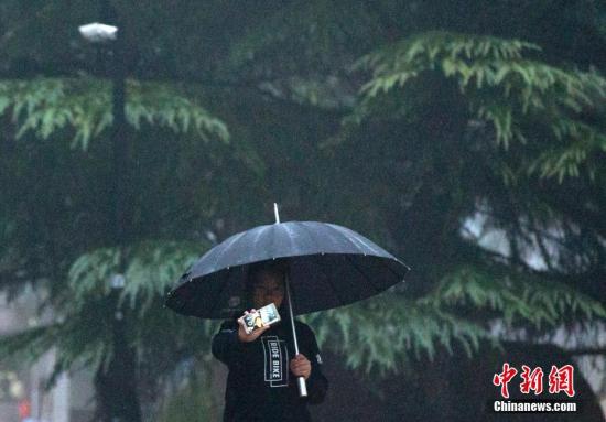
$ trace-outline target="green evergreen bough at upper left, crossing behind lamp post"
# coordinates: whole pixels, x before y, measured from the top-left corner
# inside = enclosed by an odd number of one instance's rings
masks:
[[[127,121],[136,129],[147,123],[177,133],[193,132],[203,140],[229,138],[225,123],[173,85],[129,79],[126,90]],[[113,122],[111,85],[89,77],[2,80],[0,113],[11,109],[17,138],[32,131],[46,139],[69,128],[75,131],[72,147],[84,150]]]

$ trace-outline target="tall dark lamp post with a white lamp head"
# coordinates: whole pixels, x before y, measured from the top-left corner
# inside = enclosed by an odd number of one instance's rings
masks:
[[[109,0],[100,0],[100,17],[104,22],[116,22],[117,13]],[[95,389],[98,413],[104,422],[141,422],[141,407],[137,393],[136,354],[128,344],[127,321],[119,306],[120,292],[126,279],[125,247],[130,236],[130,207],[127,204],[129,188],[129,133],[125,113],[126,65],[123,61],[123,35],[117,25],[90,23],[79,26],[87,41],[98,47],[101,77],[111,79],[111,169],[108,174],[111,216],[108,220],[112,229],[113,245],[120,250],[118,272],[110,279],[111,293],[109,307],[112,312],[111,342],[113,354],[107,370],[104,366],[95,375]],[[107,54],[100,54],[105,52]]]

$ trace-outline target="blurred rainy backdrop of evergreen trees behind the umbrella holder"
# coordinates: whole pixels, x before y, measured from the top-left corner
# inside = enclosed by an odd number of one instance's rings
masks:
[[[220,420],[163,296],[274,202],[412,268],[305,316],[315,420],[604,421],[605,44],[597,0],[0,1],[0,421]],[[493,413],[505,361],[581,411]]]

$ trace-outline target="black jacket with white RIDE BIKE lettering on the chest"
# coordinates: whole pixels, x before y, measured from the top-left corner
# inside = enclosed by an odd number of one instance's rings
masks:
[[[290,371],[294,357],[290,320],[272,325],[250,343],[238,339],[237,321],[226,321],[213,338],[213,355],[227,365],[224,421],[311,421],[307,404],[321,403],[328,381],[312,329],[295,320],[299,353],[312,364],[307,398],[299,397],[296,377]]]

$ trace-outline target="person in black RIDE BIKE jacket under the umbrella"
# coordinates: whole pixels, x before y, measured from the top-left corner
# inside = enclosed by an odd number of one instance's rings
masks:
[[[224,421],[311,421],[307,404],[324,401],[328,381],[322,374],[315,335],[299,321],[300,353],[294,354],[284,306],[286,271],[280,260],[251,264],[246,286],[250,311],[273,303],[281,322],[247,334],[241,318],[228,320],[213,338],[213,355],[229,369]],[[300,397],[296,377],[305,379],[306,397]]]

